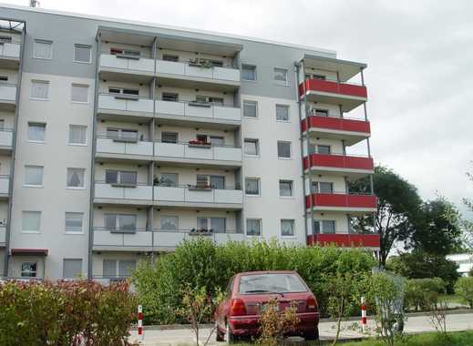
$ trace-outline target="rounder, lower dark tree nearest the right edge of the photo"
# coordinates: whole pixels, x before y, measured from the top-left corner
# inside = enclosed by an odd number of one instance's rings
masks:
[[[407,245],[427,253],[446,256],[461,249],[461,217],[446,198],[439,197],[422,204],[415,230]]]

